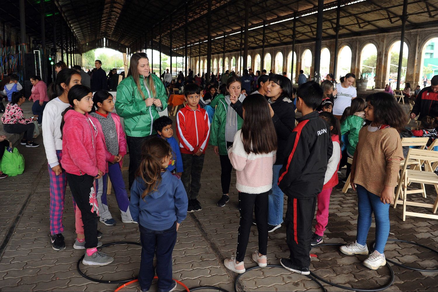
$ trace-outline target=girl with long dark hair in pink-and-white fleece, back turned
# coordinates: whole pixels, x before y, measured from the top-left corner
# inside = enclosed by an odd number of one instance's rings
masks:
[[[228,149],[231,165],[236,169],[239,191],[240,224],[236,256],[224,260],[225,267],[244,273],[244,257],[252,224],[253,210],[258,229],[258,250],[252,260],[266,267],[268,245],[268,192],[272,188],[272,165],[276,161],[277,135],[268,101],[262,95],[245,99],[242,129]]]

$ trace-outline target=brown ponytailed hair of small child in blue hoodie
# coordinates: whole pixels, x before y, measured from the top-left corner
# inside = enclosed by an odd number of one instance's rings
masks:
[[[169,143],[159,137],[152,137],[143,144],[141,163],[136,173],[146,185],[141,194],[142,199],[157,190],[162,179],[162,161],[169,155],[171,155]]]

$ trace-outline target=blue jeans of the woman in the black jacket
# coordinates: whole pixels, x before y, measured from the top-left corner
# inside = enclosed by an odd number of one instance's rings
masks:
[[[272,165],[272,189],[268,193],[268,224],[283,223],[283,192],[278,187],[278,176],[283,165]]]

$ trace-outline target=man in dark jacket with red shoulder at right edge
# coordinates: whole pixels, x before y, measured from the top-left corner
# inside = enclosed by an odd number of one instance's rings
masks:
[[[421,121],[425,116],[429,116],[431,108],[438,105],[438,75],[432,77],[431,86],[427,86],[421,89],[420,93],[415,99],[412,112],[410,114],[411,119],[415,119],[418,114],[418,120]]]

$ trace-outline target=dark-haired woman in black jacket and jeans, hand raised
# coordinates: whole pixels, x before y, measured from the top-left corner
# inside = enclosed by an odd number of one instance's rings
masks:
[[[278,187],[278,176],[285,160],[287,139],[295,127],[295,109],[292,102],[292,82],[289,78],[279,74],[269,76],[266,99],[271,110],[272,122],[277,133],[278,149],[276,162],[273,165],[272,189],[268,195],[268,232],[281,227],[283,223],[283,192]],[[251,95],[248,95],[251,98]],[[243,118],[242,103],[230,99],[230,106]]]

